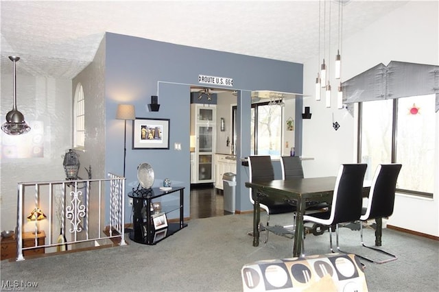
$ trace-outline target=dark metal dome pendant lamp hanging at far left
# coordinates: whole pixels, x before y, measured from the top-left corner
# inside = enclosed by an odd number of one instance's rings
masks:
[[[16,74],[15,74],[15,63],[20,60],[19,57],[10,56],[10,60],[13,62],[14,69],[14,103],[12,110],[6,114],[6,122],[1,125],[1,130],[8,135],[21,135],[30,131],[29,125],[25,122],[25,117],[19,110],[16,109]]]

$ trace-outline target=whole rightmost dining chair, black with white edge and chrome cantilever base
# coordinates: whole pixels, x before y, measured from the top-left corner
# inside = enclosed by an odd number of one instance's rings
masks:
[[[402,165],[400,164],[381,164],[378,165],[374,177],[372,179],[372,185],[370,186],[368,204],[361,210],[361,217],[359,217],[359,230],[361,245],[368,247],[371,250],[376,250],[383,254],[387,254],[391,258],[387,260],[371,260],[366,256],[358,255],[360,258],[364,258],[372,263],[383,264],[396,260],[398,256],[386,252],[377,247],[371,247],[364,244],[363,241],[363,223],[369,219],[390,217],[393,214],[394,199],[396,191],[396,180],[398,180],[399,171],[401,171]]]

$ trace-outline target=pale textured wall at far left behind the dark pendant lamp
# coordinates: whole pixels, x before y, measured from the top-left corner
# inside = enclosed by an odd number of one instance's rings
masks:
[[[25,62],[20,60],[19,62]],[[12,64],[11,64],[12,66]],[[1,132],[2,151],[5,145],[32,145],[34,138],[43,139],[44,157],[42,158],[1,158],[0,194],[1,194],[1,230],[14,230],[16,226],[16,203],[18,182],[40,182],[64,180],[62,166],[65,151],[71,145],[71,80],[55,80],[45,77],[16,76],[17,108],[27,123],[43,122],[43,130],[32,129],[20,136],[10,136]],[[12,75],[1,75],[1,123],[5,121],[6,109],[12,109]],[[43,136],[36,135],[43,133]],[[29,138],[31,141],[29,141]],[[40,202],[43,206],[45,202]],[[41,207],[44,212],[44,207]],[[32,211],[28,206],[24,212]],[[44,228],[41,221],[40,228]],[[25,223],[25,230],[32,230]]]

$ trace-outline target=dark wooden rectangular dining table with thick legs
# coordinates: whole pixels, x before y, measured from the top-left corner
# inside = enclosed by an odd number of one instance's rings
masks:
[[[287,202],[296,206],[296,222],[294,227],[293,256],[302,252],[302,236],[305,232],[303,215],[307,202],[328,202],[331,204],[337,177],[322,178],[289,178],[287,180],[268,180],[246,182],[251,188],[253,204],[253,246],[259,246],[259,222],[261,219],[260,200],[269,197],[277,202]],[[370,184],[363,186],[363,197],[368,197]],[[292,216],[292,219],[294,217]],[[382,219],[376,220],[375,245],[381,246]]]

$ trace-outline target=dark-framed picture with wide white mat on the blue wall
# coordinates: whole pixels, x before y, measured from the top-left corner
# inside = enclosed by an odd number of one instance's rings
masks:
[[[169,119],[132,121],[132,149],[169,149]]]

